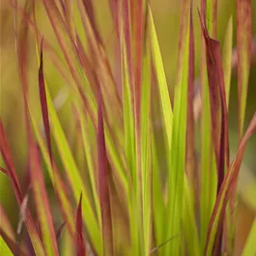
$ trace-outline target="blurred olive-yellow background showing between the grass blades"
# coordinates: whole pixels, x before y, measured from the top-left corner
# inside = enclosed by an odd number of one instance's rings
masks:
[[[14,6],[13,1],[1,0],[0,4],[0,72],[1,72],[1,119],[7,131],[8,140],[14,157],[16,172],[20,178],[21,184],[26,185],[24,174],[26,172],[27,148],[24,127],[23,101],[21,97],[21,85],[18,78],[17,60],[14,47]],[[32,1],[31,1],[32,2]],[[115,42],[113,38],[113,23],[108,9],[107,0],[92,1],[97,15],[97,22],[100,27],[100,33],[106,45],[108,57],[113,60],[115,55]],[[156,32],[161,49],[164,68],[167,75],[170,92],[173,95],[173,85],[175,84],[176,60],[179,36],[179,23],[181,0],[151,0],[151,7],[156,22]],[[22,6],[24,1],[18,1]],[[193,20],[194,20],[194,37],[195,37],[195,76],[199,74],[200,64],[200,27],[197,14],[197,7],[200,7],[200,1],[193,1]],[[248,98],[245,117],[245,126],[248,126],[253,113],[256,110],[256,1],[251,1],[252,10],[252,65],[250,70],[250,79],[248,86]],[[238,147],[238,100],[237,100],[237,66],[236,66],[236,0],[219,0],[217,11],[217,40],[223,46],[226,27],[229,18],[233,16],[233,71],[231,96],[229,105],[229,128],[230,128],[230,149],[231,159]],[[56,52],[60,53],[60,48],[52,31],[49,20],[47,19],[41,1],[36,1],[37,22],[43,36],[51,43]],[[75,18],[75,17],[74,17]],[[21,22],[19,20],[19,22]],[[78,24],[79,26],[79,24]],[[38,117],[41,115],[38,93],[38,66],[36,59],[34,33],[29,30],[29,95],[33,111]],[[65,82],[60,74],[52,69],[52,63],[47,56],[44,58],[44,71],[49,81],[51,95],[55,100],[62,101],[63,88]],[[63,82],[62,82],[63,81]],[[75,145],[75,127],[71,122],[71,104],[69,100],[59,102],[61,108],[59,117],[67,137],[77,152]],[[76,152],[75,152],[76,149]],[[1,166],[3,162],[1,159]],[[51,186],[48,185],[49,192]],[[50,197],[51,199],[51,197]],[[0,173],[0,200],[4,209],[9,213],[10,218],[16,227],[18,219],[18,210],[14,200],[14,193],[6,176]],[[54,197],[51,199],[54,204]],[[239,179],[239,204],[238,204],[238,234],[240,237],[237,241],[237,253],[242,248],[242,243],[246,239],[250,224],[256,213],[256,135],[254,134],[248,141],[246,152],[242,162],[242,170]]]

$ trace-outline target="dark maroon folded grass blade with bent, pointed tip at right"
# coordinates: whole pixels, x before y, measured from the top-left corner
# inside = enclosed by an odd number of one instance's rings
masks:
[[[212,114],[212,132],[214,155],[217,166],[217,192],[224,180],[225,168],[229,166],[229,144],[228,144],[228,119],[227,105],[222,70],[220,44],[210,38],[206,29],[205,21],[201,18],[201,29],[206,42],[207,71],[209,77],[209,92]],[[221,242],[223,231],[223,219],[218,226],[217,238],[214,249],[216,254],[221,254]]]

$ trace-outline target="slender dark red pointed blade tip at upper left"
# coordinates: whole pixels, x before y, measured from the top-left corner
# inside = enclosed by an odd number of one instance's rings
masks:
[[[51,151],[51,143],[50,143],[50,124],[49,124],[46,92],[44,87],[44,77],[43,77],[43,40],[41,43],[41,51],[40,51],[39,91],[40,91],[40,101],[41,101],[41,108],[42,108],[42,114],[43,114],[43,127],[46,135],[50,161],[52,163],[52,151]]]

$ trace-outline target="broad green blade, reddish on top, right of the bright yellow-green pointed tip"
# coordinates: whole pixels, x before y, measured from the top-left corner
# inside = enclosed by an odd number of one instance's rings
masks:
[[[189,58],[190,1],[184,0],[179,41],[178,77],[175,88],[171,156],[168,170],[167,228],[165,238],[182,233],[182,213],[185,183],[185,131],[187,111]],[[182,237],[165,245],[165,256],[179,255]]]

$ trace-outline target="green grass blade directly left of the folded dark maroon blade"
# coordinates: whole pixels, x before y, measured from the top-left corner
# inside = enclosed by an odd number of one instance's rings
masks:
[[[214,1],[215,2],[215,1]],[[201,15],[206,22],[207,30],[211,37],[215,36],[216,23],[213,22],[213,1],[201,0]],[[200,145],[200,247],[201,253],[205,248],[207,237],[207,228],[213,212],[213,206],[216,199],[216,163],[213,153],[213,135],[211,124],[211,105],[209,80],[207,75],[206,63],[206,44],[203,33],[201,34],[201,66],[200,66],[200,82],[201,82],[201,98],[202,98],[202,118],[201,118],[201,145]]]

